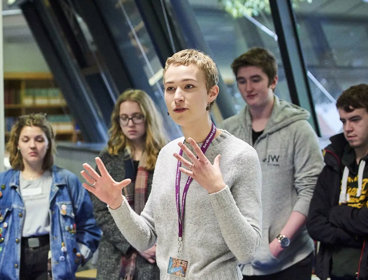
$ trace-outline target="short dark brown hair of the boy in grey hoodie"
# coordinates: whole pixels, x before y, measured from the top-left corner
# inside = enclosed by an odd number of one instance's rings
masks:
[[[231,64],[234,75],[238,75],[240,67],[257,66],[267,75],[269,84],[277,76],[277,62],[275,56],[263,48],[251,48],[234,59]]]

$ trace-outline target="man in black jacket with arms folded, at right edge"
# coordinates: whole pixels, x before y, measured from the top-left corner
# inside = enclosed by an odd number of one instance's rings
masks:
[[[307,229],[320,242],[316,274],[322,280],[368,279],[368,85],[345,90],[336,107],[344,133],[324,150]]]

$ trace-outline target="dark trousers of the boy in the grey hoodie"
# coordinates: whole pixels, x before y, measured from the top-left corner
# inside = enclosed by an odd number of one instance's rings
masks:
[[[304,260],[288,267],[280,272],[260,275],[243,276],[243,280],[310,280],[312,277],[313,254],[310,254]]]

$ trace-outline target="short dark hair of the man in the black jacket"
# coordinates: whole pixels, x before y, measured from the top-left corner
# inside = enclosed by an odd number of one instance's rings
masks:
[[[354,85],[344,90],[337,99],[336,107],[346,112],[359,108],[364,108],[368,112],[368,85]]]

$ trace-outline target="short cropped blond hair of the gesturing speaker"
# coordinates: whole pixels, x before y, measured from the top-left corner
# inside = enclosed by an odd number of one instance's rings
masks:
[[[164,68],[164,78],[167,69],[171,65],[197,65],[201,69],[206,78],[206,88],[209,91],[213,86],[218,84],[219,76],[216,63],[208,55],[194,49],[185,49],[174,53],[166,60]]]

